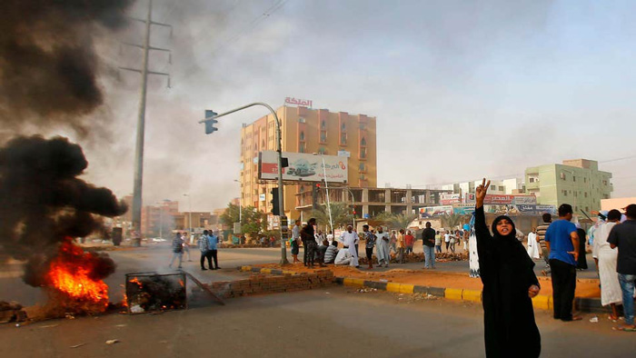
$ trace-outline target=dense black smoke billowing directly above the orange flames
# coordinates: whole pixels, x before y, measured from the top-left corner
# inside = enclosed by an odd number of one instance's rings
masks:
[[[109,189],[78,178],[87,166],[82,148],[59,136],[15,137],[0,148],[0,254],[27,261],[25,283],[44,283],[68,237],[85,237],[102,228],[101,216],[126,211]],[[95,278],[114,272],[107,255],[96,257]]]

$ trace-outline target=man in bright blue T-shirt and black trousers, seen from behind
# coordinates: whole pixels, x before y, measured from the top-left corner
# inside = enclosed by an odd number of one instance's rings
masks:
[[[552,269],[552,306],[554,319],[579,321],[581,316],[572,315],[572,303],[576,289],[576,262],[579,258],[579,235],[572,224],[571,204],[559,206],[559,220],[554,221],[545,232],[545,244],[550,252]]]

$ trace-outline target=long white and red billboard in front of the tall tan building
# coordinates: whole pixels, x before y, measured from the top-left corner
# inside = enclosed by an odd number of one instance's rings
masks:
[[[283,152],[283,158],[289,162],[289,166],[283,168],[283,180],[322,182],[325,173],[330,183],[346,183],[349,178],[348,158],[343,156]],[[258,154],[258,178],[278,179],[277,152],[263,151]]]

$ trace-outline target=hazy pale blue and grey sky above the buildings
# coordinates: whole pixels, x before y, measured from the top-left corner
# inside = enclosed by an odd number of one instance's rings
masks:
[[[131,15],[144,16],[140,0]],[[612,196],[636,196],[636,3],[630,1],[155,0],[146,110],[144,203],[187,210],[238,196],[242,123],[204,134],[204,109],[224,112],[287,96],[377,117],[378,185],[522,175],[527,166],[588,158],[614,174]],[[105,38],[106,63],[139,65],[143,25]],[[77,138],[87,178],[133,188],[139,76],[104,77],[95,121],[110,135]],[[51,133],[67,134],[56,129]],[[630,157],[629,159],[611,161]],[[398,158],[398,160],[395,160]]]

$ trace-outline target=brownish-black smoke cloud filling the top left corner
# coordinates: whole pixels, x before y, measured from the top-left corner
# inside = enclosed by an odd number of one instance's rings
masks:
[[[122,27],[132,3],[3,0],[0,118],[5,128],[19,127],[29,115],[33,124],[69,124],[84,131],[82,114],[103,102],[95,36]]]

